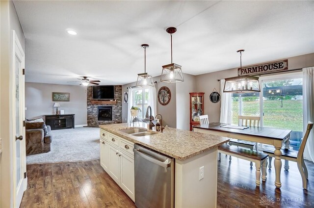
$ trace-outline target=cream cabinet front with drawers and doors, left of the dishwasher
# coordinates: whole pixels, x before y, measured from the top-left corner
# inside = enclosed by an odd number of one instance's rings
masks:
[[[134,201],[134,143],[101,130],[101,166]]]

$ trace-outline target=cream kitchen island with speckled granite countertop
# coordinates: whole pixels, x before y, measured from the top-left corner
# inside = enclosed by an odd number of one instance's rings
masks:
[[[101,165],[134,201],[134,143],[175,158],[175,207],[215,208],[217,200],[217,147],[229,138],[188,130],[147,130],[146,123],[100,126]],[[135,136],[121,130],[142,129]],[[200,168],[204,166],[200,180]]]

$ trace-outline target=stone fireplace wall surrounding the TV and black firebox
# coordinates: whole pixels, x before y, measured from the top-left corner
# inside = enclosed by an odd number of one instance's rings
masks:
[[[91,104],[91,100],[93,100],[93,87],[87,87],[88,127],[98,127],[98,125],[122,123],[122,85],[115,85],[114,90],[114,97],[117,99],[117,104]],[[98,121],[98,106],[112,106],[112,121]]]

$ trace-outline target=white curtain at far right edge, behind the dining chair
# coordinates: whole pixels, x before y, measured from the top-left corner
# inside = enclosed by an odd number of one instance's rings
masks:
[[[303,134],[308,121],[314,122],[314,67],[303,68]],[[304,157],[314,161],[314,130],[312,129],[304,149]]]

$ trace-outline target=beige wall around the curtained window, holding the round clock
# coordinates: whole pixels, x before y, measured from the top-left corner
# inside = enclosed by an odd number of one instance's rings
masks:
[[[157,113],[160,113],[162,115],[163,123],[162,125],[168,125],[169,127],[176,128],[177,127],[177,116],[176,116],[176,104],[177,104],[177,98],[176,98],[176,84],[168,84],[160,82],[160,76],[154,77],[154,81],[157,81],[157,84],[155,84],[156,87],[156,94],[160,87],[167,86],[170,89],[171,92],[171,100],[169,104],[167,105],[161,105],[157,103]],[[129,84],[122,85],[122,96],[124,95],[124,92],[127,92],[127,87],[135,86],[136,82],[132,82]],[[156,113],[156,114],[157,114]],[[127,122],[128,117],[128,104],[122,103],[122,122]]]

